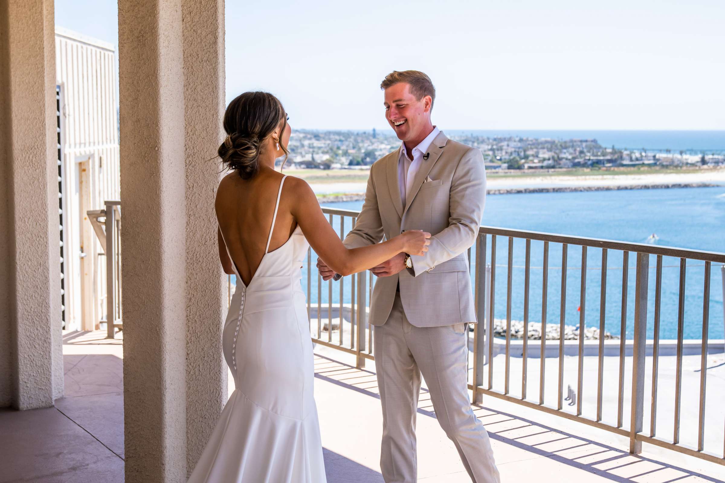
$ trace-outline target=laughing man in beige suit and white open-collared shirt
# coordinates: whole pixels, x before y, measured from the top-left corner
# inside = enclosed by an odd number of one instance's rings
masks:
[[[417,481],[422,374],[471,480],[499,482],[489,435],[468,399],[468,324],[476,314],[466,252],[484,211],[484,159],[431,124],[436,91],[426,74],[394,71],[381,89],[386,119],[402,145],[370,167],[365,203],[344,245],[371,245],[405,230],[433,234],[425,255],[399,253],[372,269],[380,277],[370,324],[383,406],[383,476],[386,483]],[[324,280],[335,274],[320,259],[318,269]]]

